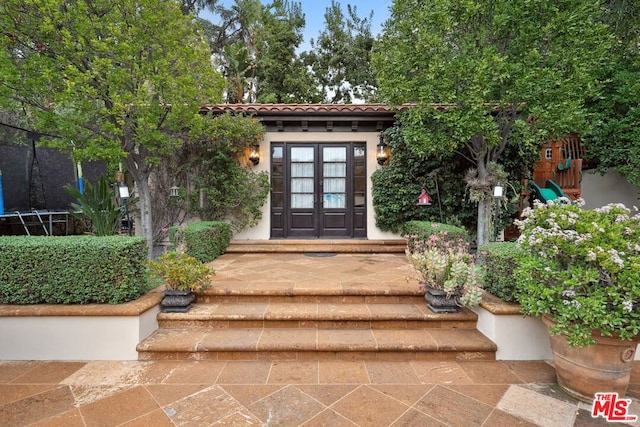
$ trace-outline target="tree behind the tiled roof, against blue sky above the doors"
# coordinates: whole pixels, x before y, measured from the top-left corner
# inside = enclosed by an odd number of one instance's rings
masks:
[[[324,14],[325,28],[311,40],[311,52],[303,54],[322,86],[325,101],[349,103],[368,99],[375,93],[376,81],[371,69],[371,20],[373,11],[360,18],[355,6],[331,1]]]

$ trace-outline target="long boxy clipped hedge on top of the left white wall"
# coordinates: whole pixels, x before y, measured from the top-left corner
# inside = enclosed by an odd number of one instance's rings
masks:
[[[0,237],[2,304],[119,304],[149,288],[142,238]]]

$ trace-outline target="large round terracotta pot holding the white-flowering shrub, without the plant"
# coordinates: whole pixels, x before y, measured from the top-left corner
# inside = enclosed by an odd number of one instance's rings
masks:
[[[543,316],[547,326],[555,324]],[[624,396],[638,341],[593,334],[596,344],[571,347],[564,335],[551,335],[551,351],[560,387],[573,397],[591,403],[597,392],[616,392]]]

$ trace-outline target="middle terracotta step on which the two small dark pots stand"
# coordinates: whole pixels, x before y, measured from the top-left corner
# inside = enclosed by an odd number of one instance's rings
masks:
[[[424,300],[418,304],[223,302],[195,304],[187,313],[160,313],[158,325],[164,329],[473,329],[477,319],[467,309],[433,313]]]

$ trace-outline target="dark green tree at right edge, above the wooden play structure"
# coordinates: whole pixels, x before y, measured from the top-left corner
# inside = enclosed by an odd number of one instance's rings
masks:
[[[616,43],[601,70],[603,93],[589,102],[595,127],[584,135],[587,155],[601,172],[614,168],[640,186],[640,3],[610,0],[603,19]]]

